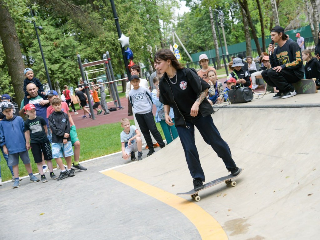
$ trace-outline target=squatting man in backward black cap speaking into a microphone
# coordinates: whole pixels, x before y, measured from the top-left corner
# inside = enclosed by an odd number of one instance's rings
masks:
[[[301,50],[296,42],[287,40],[284,28],[280,26],[272,28],[270,35],[272,44],[268,53],[272,68],[264,70],[261,75],[268,85],[279,90],[272,99],[290,98],[297,94],[292,84],[304,77]],[[276,49],[275,43],[278,44]]]

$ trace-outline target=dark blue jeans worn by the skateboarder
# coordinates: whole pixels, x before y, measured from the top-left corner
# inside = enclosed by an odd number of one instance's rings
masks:
[[[227,169],[236,167],[231,157],[228,144],[221,138],[220,133],[213,123],[212,116],[199,117],[196,121],[186,122],[187,127],[177,126],[179,137],[186,156],[188,168],[193,178],[204,179],[204,172],[201,167],[199,154],[195,143],[195,126],[199,130],[204,141],[211,145],[217,155],[222,158]]]

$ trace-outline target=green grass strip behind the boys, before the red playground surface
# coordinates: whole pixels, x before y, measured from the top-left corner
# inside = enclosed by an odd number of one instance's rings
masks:
[[[134,120],[131,120],[130,123],[134,124]],[[162,138],[164,139],[164,134],[160,124],[156,123],[156,126]],[[77,129],[78,138],[81,143],[80,162],[121,151],[120,133],[122,130],[123,129],[120,123],[102,124],[99,126]],[[31,161],[32,171],[34,173],[37,173],[38,169],[34,162],[31,150],[29,150],[29,157]],[[66,164],[64,159],[63,161],[64,164]],[[0,164],[2,181],[10,180],[12,178],[11,172],[2,155]],[[56,161],[54,160],[52,160],[52,164],[54,168],[57,166]],[[28,175],[28,172],[26,171],[21,160],[19,161],[19,175]],[[49,174],[47,173],[47,178],[48,177]]]

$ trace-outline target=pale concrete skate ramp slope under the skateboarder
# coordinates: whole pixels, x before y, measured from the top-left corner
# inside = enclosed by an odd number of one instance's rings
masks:
[[[319,116],[320,108],[219,109],[214,123],[244,171],[236,187],[208,188],[194,204],[217,220],[229,239],[317,239]],[[206,181],[227,175],[198,132],[196,143]],[[193,188],[179,139],[116,171],[172,194]]]

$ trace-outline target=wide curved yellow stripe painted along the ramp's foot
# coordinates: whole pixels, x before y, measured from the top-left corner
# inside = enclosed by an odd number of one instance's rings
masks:
[[[217,220],[197,204],[186,201],[184,198],[151,186],[116,170],[107,170],[101,173],[177,209],[195,225],[202,239],[228,240],[227,234]]]

